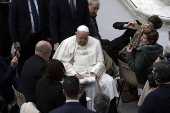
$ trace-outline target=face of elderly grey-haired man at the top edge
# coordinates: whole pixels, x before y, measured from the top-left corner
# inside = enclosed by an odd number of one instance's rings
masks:
[[[91,16],[96,16],[97,11],[99,10],[100,3],[98,1],[94,1],[91,5],[89,5],[89,11]]]

